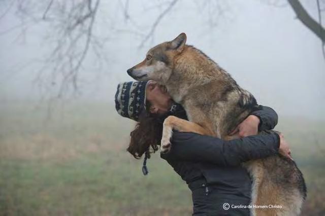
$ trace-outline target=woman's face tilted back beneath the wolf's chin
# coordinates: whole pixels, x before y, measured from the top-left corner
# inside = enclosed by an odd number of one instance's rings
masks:
[[[170,110],[173,101],[164,86],[155,81],[149,81],[146,91],[146,99],[150,103],[150,113],[164,114]]]

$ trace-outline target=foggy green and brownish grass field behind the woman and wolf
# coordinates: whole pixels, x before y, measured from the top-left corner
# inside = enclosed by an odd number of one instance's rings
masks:
[[[0,215],[190,215],[186,184],[158,154],[125,149],[133,123],[113,104],[74,103],[46,120],[29,102],[0,105]],[[308,187],[303,215],[325,215],[325,123],[280,116]]]

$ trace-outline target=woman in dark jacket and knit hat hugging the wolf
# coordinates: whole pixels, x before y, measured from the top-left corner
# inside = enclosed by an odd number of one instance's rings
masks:
[[[181,105],[173,102],[163,86],[153,81],[126,82],[118,85],[115,95],[117,112],[138,122],[131,132],[128,152],[135,158],[146,158],[158,149],[164,119],[170,115],[187,119]],[[193,215],[249,215],[251,179],[241,163],[280,153],[290,158],[282,135],[256,135],[258,130],[272,129],[276,113],[269,107],[253,112],[232,133],[244,138],[222,139],[174,132],[172,148],[161,154],[192,191]],[[151,147],[151,151],[149,150]],[[144,163],[145,163],[144,162]],[[145,170],[146,171],[146,170]]]

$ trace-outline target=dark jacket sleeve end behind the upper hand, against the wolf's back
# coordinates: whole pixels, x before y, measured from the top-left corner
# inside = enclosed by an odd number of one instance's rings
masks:
[[[262,106],[262,110],[254,111],[250,115],[257,116],[260,120],[258,130],[271,130],[278,124],[277,113],[269,106]]]

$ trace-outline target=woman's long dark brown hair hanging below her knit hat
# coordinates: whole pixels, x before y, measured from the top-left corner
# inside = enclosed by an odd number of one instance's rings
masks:
[[[135,129],[130,134],[131,140],[127,151],[136,159],[140,159],[144,153],[150,158],[150,153],[159,149],[163,123],[168,116],[149,113],[149,109],[150,103],[146,101],[146,109],[143,109]]]

